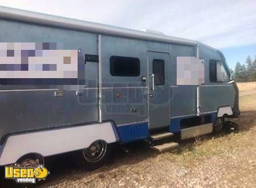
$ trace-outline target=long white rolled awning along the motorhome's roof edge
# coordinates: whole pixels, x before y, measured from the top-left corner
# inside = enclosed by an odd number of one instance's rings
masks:
[[[39,12],[32,12],[27,10],[20,10],[16,8],[0,6],[0,18],[14,19],[23,22],[38,23],[52,25],[56,27],[78,29],[80,31],[96,32],[105,35],[123,36],[134,39],[153,40],[160,42],[172,42],[175,44],[197,45],[198,42],[194,40],[181,39],[178,37],[163,36],[153,33],[136,31],[133,29],[126,29],[114,27],[106,24],[99,24],[87,22],[78,19],[65,18],[61,16],[54,16],[49,14],[42,14]]]

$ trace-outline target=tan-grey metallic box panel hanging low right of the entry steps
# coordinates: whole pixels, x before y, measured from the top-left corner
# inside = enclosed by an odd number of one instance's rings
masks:
[[[213,123],[181,129],[181,139],[194,138],[196,136],[212,133]]]

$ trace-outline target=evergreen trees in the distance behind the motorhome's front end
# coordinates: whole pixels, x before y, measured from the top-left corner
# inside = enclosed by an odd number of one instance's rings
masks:
[[[245,60],[245,63],[236,63],[233,72],[234,80],[236,82],[253,82],[256,81],[256,56],[254,59],[251,59],[248,56]]]

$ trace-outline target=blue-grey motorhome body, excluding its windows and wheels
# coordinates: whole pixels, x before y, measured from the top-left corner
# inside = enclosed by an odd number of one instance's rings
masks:
[[[109,143],[127,143],[147,139],[151,131],[166,127],[172,133],[180,133],[182,119],[207,116],[209,122],[214,122],[217,113],[233,117],[239,114],[236,84],[210,81],[211,60],[223,63],[230,74],[223,54],[197,41],[6,7],[0,7],[0,28],[1,42],[56,42],[63,44],[64,50],[79,49],[84,62],[84,84],[79,89],[59,89],[58,84],[1,83],[2,165],[14,163],[26,152],[41,152],[48,156],[88,147],[93,140],[104,139],[104,134],[109,135]],[[99,61],[86,61],[87,54],[95,55]],[[139,75],[111,75],[110,58],[113,56],[138,58]],[[203,59],[204,83],[177,85],[177,57]],[[154,59],[164,62],[164,84],[154,86],[152,91]],[[145,83],[142,83],[143,76]],[[56,94],[58,92],[61,95]],[[219,112],[224,107],[229,107],[232,114],[225,109]],[[104,133],[92,128],[90,131],[79,130],[84,131],[85,140],[80,141],[84,142],[83,146],[73,142],[74,149],[72,146],[63,150],[53,148],[54,143],[62,144],[56,147],[65,148],[65,143],[72,142],[74,135],[80,135],[78,130],[72,131],[72,127],[102,126],[103,123],[110,127],[103,129]],[[48,135],[50,131],[56,131],[55,141]],[[43,139],[41,146],[31,143],[32,138],[28,139],[29,143],[24,141],[26,135],[33,134],[39,134],[38,138]],[[23,137],[19,137],[21,135]],[[19,143],[16,146],[8,143],[11,139]],[[19,151],[24,144],[30,145]],[[52,152],[37,151],[36,147],[44,148],[44,151],[49,148]],[[12,159],[10,155],[15,157]]]

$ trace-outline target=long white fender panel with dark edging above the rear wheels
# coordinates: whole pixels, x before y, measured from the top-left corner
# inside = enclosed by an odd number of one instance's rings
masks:
[[[0,165],[15,163],[27,153],[51,156],[87,148],[96,140],[117,142],[116,127],[104,122],[8,135],[1,147]]]

